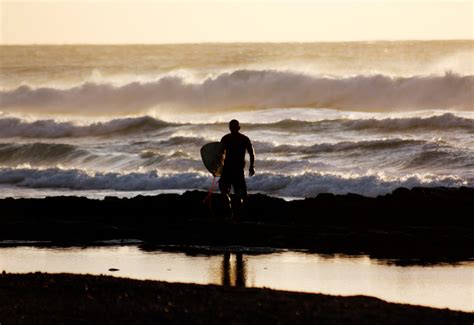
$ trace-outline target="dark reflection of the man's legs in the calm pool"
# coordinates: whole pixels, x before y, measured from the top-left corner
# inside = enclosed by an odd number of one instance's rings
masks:
[[[231,259],[231,257],[233,257]],[[233,262],[233,263],[232,263]],[[225,252],[222,259],[221,284],[227,287],[245,287],[247,270],[241,252]]]

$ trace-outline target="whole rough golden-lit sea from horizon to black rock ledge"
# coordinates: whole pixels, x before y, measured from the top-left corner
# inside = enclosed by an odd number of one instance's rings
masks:
[[[208,190],[238,119],[251,193],[474,186],[474,41],[0,46],[0,197]]]

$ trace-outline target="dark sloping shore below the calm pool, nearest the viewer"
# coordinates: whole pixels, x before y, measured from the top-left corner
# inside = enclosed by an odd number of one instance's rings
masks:
[[[380,299],[105,276],[0,275],[2,324],[472,324],[474,314]]]

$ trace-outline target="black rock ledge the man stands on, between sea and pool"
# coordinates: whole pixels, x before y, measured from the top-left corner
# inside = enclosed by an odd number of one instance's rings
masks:
[[[251,195],[241,223],[222,222],[219,194],[0,200],[0,240],[87,244],[135,238],[147,245],[306,248],[379,258],[474,257],[474,188],[400,188],[377,198],[320,194],[284,201]]]

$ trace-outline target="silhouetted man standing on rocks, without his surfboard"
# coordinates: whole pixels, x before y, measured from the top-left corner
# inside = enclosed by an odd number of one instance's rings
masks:
[[[229,219],[240,217],[243,200],[247,198],[247,184],[245,183],[245,152],[250,156],[249,175],[255,174],[255,153],[250,139],[239,132],[240,124],[237,120],[229,122],[230,133],[222,137],[221,142],[225,149],[224,169],[219,179],[219,189],[228,202]],[[230,199],[230,188],[234,188],[236,204],[234,206]]]

